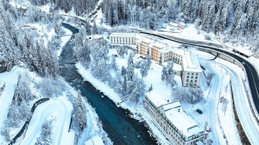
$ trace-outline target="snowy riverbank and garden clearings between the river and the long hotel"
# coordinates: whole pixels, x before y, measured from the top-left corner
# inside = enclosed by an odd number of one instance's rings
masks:
[[[112,55],[112,54],[117,54],[116,49],[109,49],[109,55]],[[138,58],[138,57],[139,57],[139,54],[136,54],[136,56],[134,57],[134,61],[142,60],[142,58]],[[124,58],[121,56],[116,57],[116,61],[118,63],[119,68],[121,68],[122,65],[125,66],[127,64],[126,63],[127,59],[128,59],[128,55],[124,55]],[[153,61],[153,60],[151,61],[152,61],[151,69],[149,70],[147,77],[143,78],[143,80],[147,85],[146,89],[148,89],[148,87],[152,84],[154,89],[159,89],[164,94],[170,96],[172,87],[170,85],[167,86],[165,82],[161,81],[162,66],[157,64],[156,61]],[[76,67],[78,68],[78,72],[84,77],[84,79],[91,82],[94,87],[96,87],[98,90],[101,90],[105,95],[107,95],[114,102],[116,103],[122,102],[120,96],[114,92],[113,88],[108,87],[108,84],[104,84],[102,81],[94,78],[90,70],[84,69],[84,67],[80,63],[77,63]],[[141,77],[139,73],[139,69],[135,68],[135,73],[137,73],[139,77]],[[180,76],[176,76],[176,80],[179,85],[182,85]],[[140,100],[143,100],[143,96],[140,98]],[[130,109],[130,111],[133,113],[133,116],[132,116],[133,118],[136,118],[138,120],[145,120],[149,124],[149,127],[154,133],[154,136],[157,137],[158,142],[166,145],[172,144],[170,141],[166,139],[165,135],[162,134],[162,132],[160,131],[160,128],[157,127],[156,124],[154,124],[152,117],[146,112],[146,110],[142,105],[129,106],[125,102],[122,102],[118,106]]]

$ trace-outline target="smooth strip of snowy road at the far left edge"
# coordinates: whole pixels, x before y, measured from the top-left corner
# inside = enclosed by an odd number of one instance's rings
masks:
[[[3,126],[3,121],[8,114],[8,106],[11,104],[14,93],[15,93],[15,86],[18,81],[18,67],[14,66],[10,72],[6,71],[0,74],[0,82],[5,82],[5,89],[0,96],[0,128]],[[1,84],[1,83],[0,83]],[[0,140],[5,140],[3,136],[0,134]],[[1,142],[0,142],[1,144]]]

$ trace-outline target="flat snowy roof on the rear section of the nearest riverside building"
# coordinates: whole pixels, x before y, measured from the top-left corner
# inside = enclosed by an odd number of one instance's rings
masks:
[[[162,94],[159,90],[151,90],[145,93],[145,95],[156,107],[160,107],[162,105],[172,102],[167,96]]]

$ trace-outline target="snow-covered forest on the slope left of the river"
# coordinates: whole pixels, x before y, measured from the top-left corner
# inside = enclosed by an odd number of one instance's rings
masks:
[[[63,112],[68,115],[68,126],[64,127],[69,130],[70,119],[73,118],[73,131],[78,137],[87,128],[89,114],[95,115],[90,120],[93,119],[97,123],[91,127],[96,130],[96,134],[99,134],[106,144],[110,144],[110,139],[103,131],[102,124],[98,121],[98,116],[96,117],[94,110],[91,108],[90,113],[88,113],[90,105],[87,100],[83,99],[84,96],[81,96],[80,91],[73,90],[60,77],[57,51],[64,46],[60,36],[66,34],[61,24],[62,21],[64,21],[64,17],[61,17],[54,10],[46,13],[38,6],[31,5],[25,13],[21,7],[13,5],[8,0],[0,1],[0,73],[5,73],[5,71],[11,71],[10,75],[13,73],[11,76],[3,74],[0,79],[0,102],[6,106],[6,108],[1,106],[3,120],[0,123],[0,144],[12,141],[18,131],[23,130],[21,128],[26,122],[38,119],[37,115],[33,114],[35,108],[32,108],[35,107],[33,105],[36,101],[43,98],[61,100],[61,102],[70,101],[65,106],[67,112]],[[16,75],[17,77],[15,77]],[[10,82],[13,84],[10,85]],[[9,98],[13,98],[10,102],[4,100],[9,96],[7,94],[10,95]],[[72,109],[69,108],[70,104],[73,106]],[[60,113],[62,115],[62,112]],[[41,129],[38,130],[40,132],[33,132],[35,136],[38,136],[37,138],[31,136],[30,138],[35,140],[31,143],[50,145],[56,142],[54,137],[57,133],[55,132],[55,128],[57,128],[56,118],[54,118],[55,121],[53,118],[51,120],[41,118],[43,119],[41,121],[45,119],[42,124],[32,125],[32,129],[37,128],[37,126],[40,126]],[[25,131],[31,127],[30,125],[25,126]],[[27,132],[23,132],[21,135],[25,137],[25,144],[28,144],[26,142]],[[62,137],[62,134],[59,136]],[[19,139],[21,144],[23,144],[22,139]]]

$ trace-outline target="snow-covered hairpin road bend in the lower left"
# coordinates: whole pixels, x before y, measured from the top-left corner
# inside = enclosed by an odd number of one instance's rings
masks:
[[[34,144],[41,134],[41,125],[46,119],[54,119],[53,145],[73,144],[73,135],[68,132],[72,109],[71,102],[66,99],[51,99],[37,106],[20,145]]]

